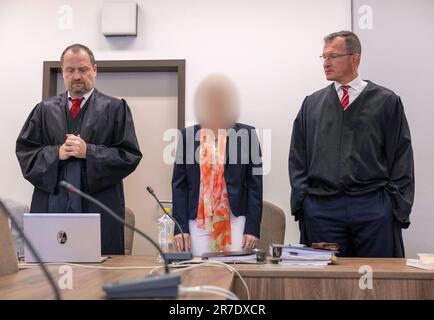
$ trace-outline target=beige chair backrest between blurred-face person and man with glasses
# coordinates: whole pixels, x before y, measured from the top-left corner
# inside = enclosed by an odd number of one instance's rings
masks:
[[[262,208],[261,238],[257,248],[270,255],[270,244],[283,244],[285,241],[285,212],[278,206],[264,201]]]

